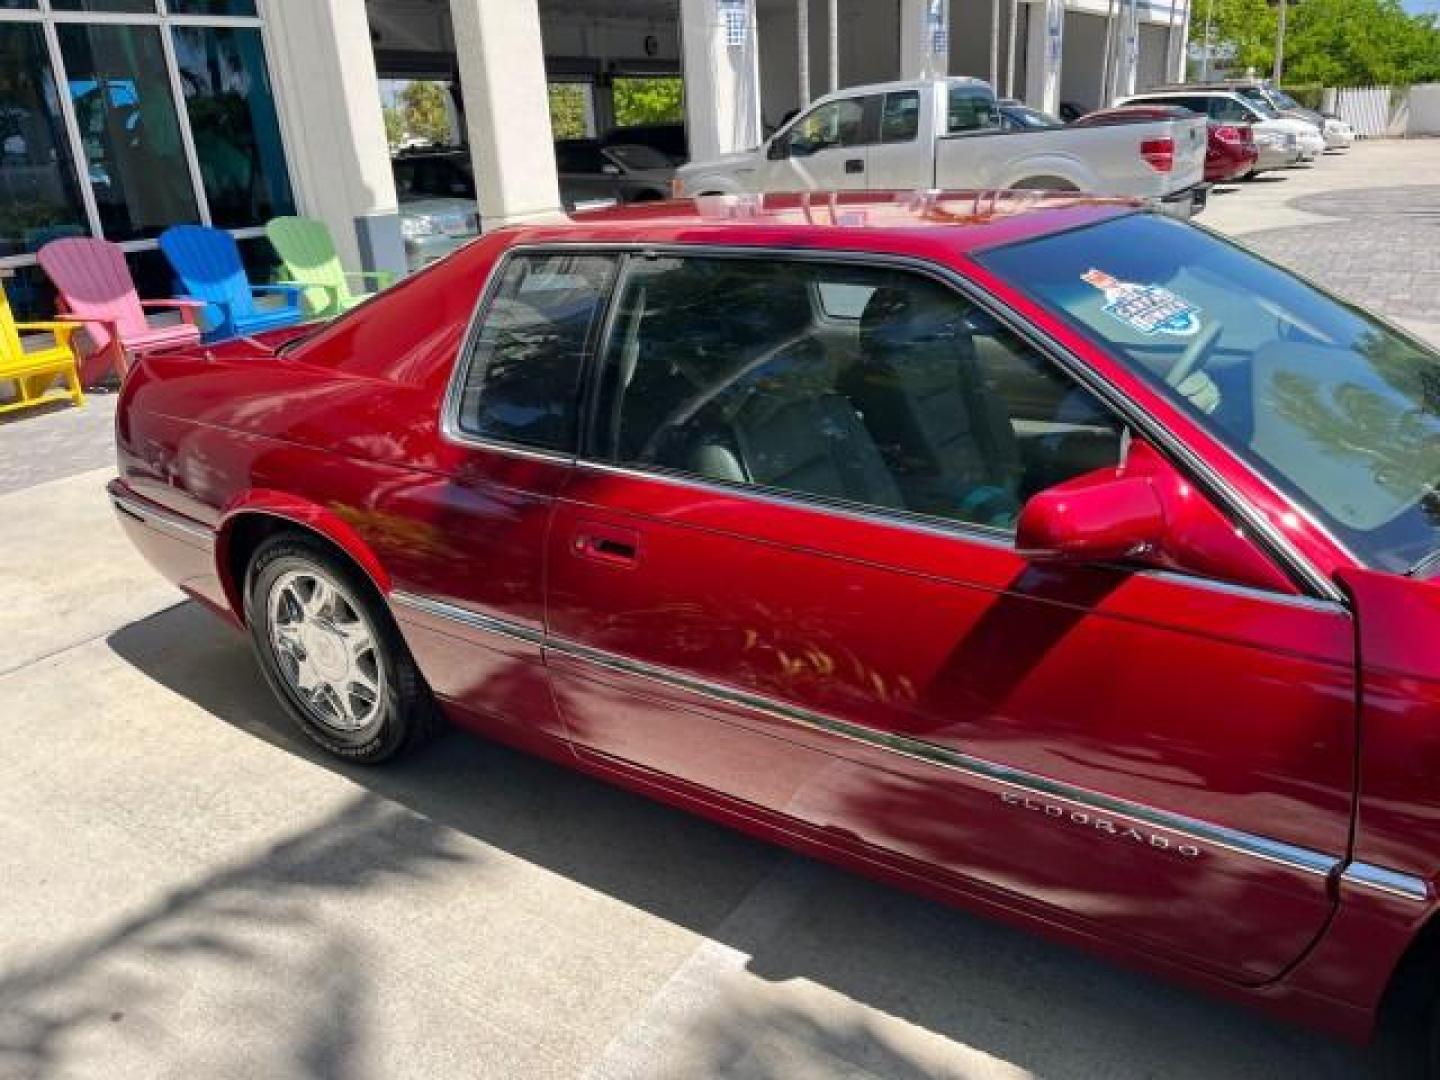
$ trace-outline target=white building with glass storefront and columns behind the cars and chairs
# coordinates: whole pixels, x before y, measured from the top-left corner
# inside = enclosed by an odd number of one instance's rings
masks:
[[[1050,112],[1182,76],[1188,0],[0,0],[0,272],[43,311],[48,239],[121,243],[166,291],[156,238],[330,225],[354,266],[403,269],[389,88],[431,81],[487,226],[560,204],[552,124],[596,134],[678,82],[693,157],[757,144],[831,89],[989,79]],[[573,132],[570,132],[573,134]]]

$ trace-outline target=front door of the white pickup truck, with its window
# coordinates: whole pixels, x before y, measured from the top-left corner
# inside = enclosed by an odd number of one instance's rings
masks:
[[[770,141],[765,192],[864,190],[880,95],[816,105]]]

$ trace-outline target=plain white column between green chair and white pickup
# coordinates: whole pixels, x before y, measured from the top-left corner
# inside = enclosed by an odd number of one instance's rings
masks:
[[[451,0],[451,22],[481,228],[559,215],[539,1]]]

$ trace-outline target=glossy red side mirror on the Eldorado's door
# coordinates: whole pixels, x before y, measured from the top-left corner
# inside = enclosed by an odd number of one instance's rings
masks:
[[[1165,507],[1146,477],[1041,491],[1020,511],[1015,546],[1037,562],[1106,563],[1143,556],[1165,539]]]

